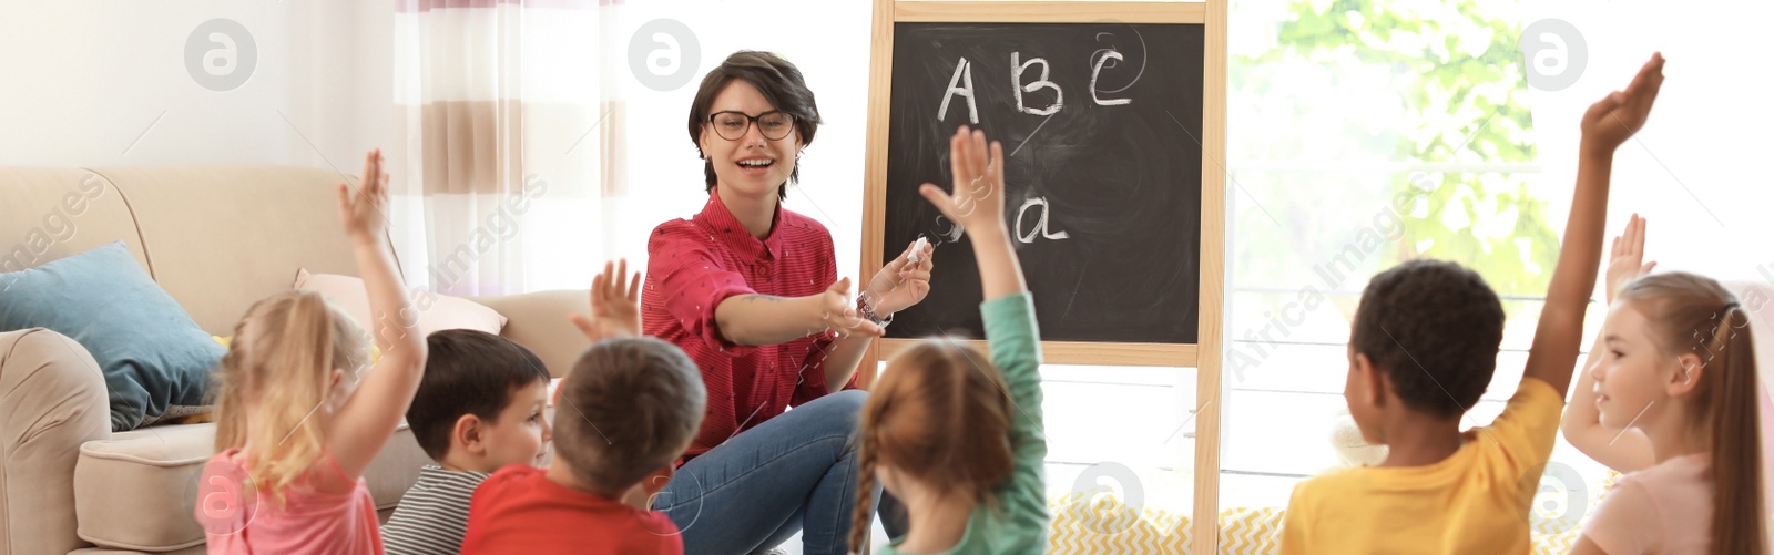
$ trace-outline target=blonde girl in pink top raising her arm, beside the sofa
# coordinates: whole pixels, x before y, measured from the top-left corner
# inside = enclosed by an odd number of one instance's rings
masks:
[[[362,475],[426,367],[426,339],[385,246],[387,179],[381,151],[371,151],[357,193],[339,184],[381,349],[374,369],[362,372],[365,330],[316,293],[261,300],[234,326],[216,371],[216,454],[197,491],[209,553],[381,553]]]

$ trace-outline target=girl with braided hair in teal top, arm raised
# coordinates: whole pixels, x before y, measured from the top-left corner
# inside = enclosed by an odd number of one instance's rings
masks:
[[[928,339],[887,363],[862,408],[862,470],[852,550],[880,481],[912,518],[882,553],[1043,553],[1041,348],[1034,305],[1004,227],[1004,147],[965,126],[949,142],[954,192],[919,192],[965,229],[979,261],[992,360]]]

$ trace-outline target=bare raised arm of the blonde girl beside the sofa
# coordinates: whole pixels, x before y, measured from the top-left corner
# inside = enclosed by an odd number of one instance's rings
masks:
[[[364,468],[369,468],[369,461],[394,434],[426,371],[426,339],[419,333],[417,314],[406,300],[383,236],[387,204],[389,176],[381,172],[381,151],[369,151],[357,193],[344,183],[339,184],[339,220],[344,222],[357,271],[369,293],[371,321],[364,326],[381,349],[381,360],[362,376],[357,392],[332,415],[326,429],[326,449],[351,479],[364,475]]]

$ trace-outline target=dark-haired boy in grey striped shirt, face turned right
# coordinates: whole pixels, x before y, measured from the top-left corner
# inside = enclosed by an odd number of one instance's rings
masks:
[[[436,465],[419,470],[381,527],[387,555],[458,553],[481,481],[507,465],[541,466],[552,436],[548,369],[530,349],[474,330],[436,332],[426,346],[406,426]]]

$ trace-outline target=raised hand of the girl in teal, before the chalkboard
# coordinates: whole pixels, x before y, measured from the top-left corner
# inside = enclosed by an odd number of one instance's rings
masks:
[[[933,183],[924,183],[917,192],[967,232],[1002,232],[1004,145],[993,140],[988,151],[985,131],[962,126],[949,138],[949,167],[954,174],[953,193],[944,193]]]

